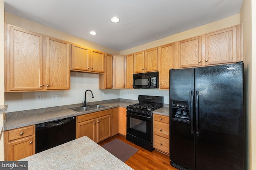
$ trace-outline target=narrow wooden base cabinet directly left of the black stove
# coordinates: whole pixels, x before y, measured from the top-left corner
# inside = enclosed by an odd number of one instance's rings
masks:
[[[118,133],[126,136],[126,107],[118,107]]]

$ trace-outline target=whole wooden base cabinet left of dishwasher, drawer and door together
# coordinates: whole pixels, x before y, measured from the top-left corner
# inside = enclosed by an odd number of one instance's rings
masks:
[[[16,161],[35,154],[35,125],[4,131],[4,160]]]

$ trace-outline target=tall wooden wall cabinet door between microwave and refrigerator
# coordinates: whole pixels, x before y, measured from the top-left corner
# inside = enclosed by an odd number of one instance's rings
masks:
[[[174,68],[174,43],[159,48],[159,88],[169,89],[169,70]]]

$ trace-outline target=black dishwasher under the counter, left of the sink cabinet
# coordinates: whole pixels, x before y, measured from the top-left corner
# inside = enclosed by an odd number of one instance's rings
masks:
[[[36,153],[76,139],[76,117],[36,124]]]

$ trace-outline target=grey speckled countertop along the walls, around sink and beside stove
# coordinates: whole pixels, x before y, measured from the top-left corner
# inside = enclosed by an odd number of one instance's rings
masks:
[[[107,107],[83,111],[83,112],[77,112],[70,109],[74,107],[80,107],[82,106],[82,104],[10,112],[10,113],[7,113],[4,118],[4,131],[15,129],[18,127],[25,127],[29,125],[35,125],[38,123],[44,123],[48,121],[64,119],[66,117],[78,116],[78,115],[83,115],[87,113],[93,113],[96,111],[112,109],[114,107],[126,107],[134,103],[138,103],[138,101],[118,99],[118,100],[110,100],[110,101],[91,102],[91,103],[88,103],[88,106],[94,105],[94,104],[102,104]],[[169,116],[169,108],[163,107],[153,111],[153,113]]]

